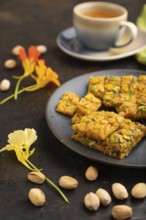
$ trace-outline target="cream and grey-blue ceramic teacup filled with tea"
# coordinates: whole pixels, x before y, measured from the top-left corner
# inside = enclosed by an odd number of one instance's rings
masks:
[[[92,50],[108,50],[131,43],[137,36],[137,27],[127,21],[127,17],[126,8],[109,2],[84,2],[73,8],[77,37]]]

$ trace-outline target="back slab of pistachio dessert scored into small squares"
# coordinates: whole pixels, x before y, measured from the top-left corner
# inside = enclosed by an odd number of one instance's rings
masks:
[[[146,119],[145,75],[92,77],[88,91],[100,98],[106,107],[114,107],[125,118]]]

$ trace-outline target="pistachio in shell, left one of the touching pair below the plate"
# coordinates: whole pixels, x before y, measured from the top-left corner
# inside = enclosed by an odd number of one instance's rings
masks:
[[[96,211],[100,206],[100,200],[95,193],[89,192],[84,197],[84,205],[87,209]]]

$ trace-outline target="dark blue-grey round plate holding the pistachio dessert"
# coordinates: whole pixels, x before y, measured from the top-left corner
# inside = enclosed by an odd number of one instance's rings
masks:
[[[46,106],[46,119],[49,128],[55,137],[62,142],[66,147],[74,152],[92,159],[94,161],[102,162],[123,167],[146,168],[146,138],[144,138],[124,160],[114,159],[103,153],[87,148],[82,144],[71,139],[73,133],[71,129],[70,118],[63,114],[56,112],[56,105],[62,95],[71,91],[83,97],[87,92],[89,76],[104,76],[104,75],[140,75],[146,72],[139,70],[104,70],[88,73],[78,76],[64,83],[59,87],[49,99]]]

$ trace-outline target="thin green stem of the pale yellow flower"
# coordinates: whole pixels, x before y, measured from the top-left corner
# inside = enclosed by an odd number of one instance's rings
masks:
[[[34,166],[29,160],[26,160],[26,162],[36,171],[40,172],[40,170]],[[62,192],[62,190],[55,184],[53,183],[48,177],[45,176],[46,181],[52,186],[54,187],[58,193],[61,195],[61,197],[65,200],[65,202],[69,203],[68,198],[65,196],[65,194]]]

